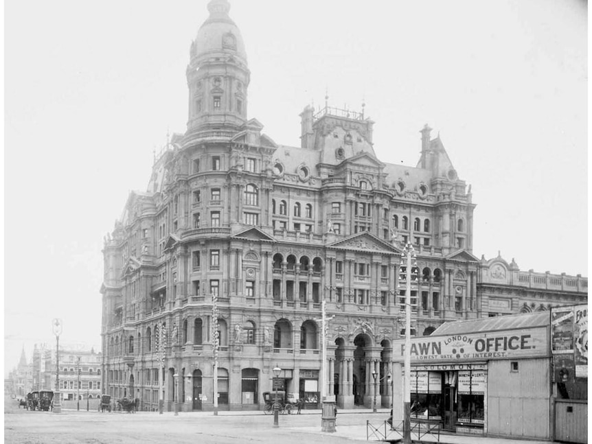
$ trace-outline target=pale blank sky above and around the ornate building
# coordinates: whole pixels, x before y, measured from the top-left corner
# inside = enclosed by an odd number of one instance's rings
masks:
[[[347,106],[415,166],[424,124],[472,185],[473,253],[588,276],[587,3],[230,0],[248,117],[299,146],[307,104]],[[207,1],[5,1],[5,374],[25,347],[100,349],[102,238],[187,121]]]

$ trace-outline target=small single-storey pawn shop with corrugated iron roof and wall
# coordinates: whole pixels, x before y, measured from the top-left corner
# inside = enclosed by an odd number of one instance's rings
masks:
[[[405,340],[393,347],[393,417],[403,418]],[[445,323],[411,339],[411,421],[549,439],[549,312]],[[400,381],[400,384],[397,382]]]

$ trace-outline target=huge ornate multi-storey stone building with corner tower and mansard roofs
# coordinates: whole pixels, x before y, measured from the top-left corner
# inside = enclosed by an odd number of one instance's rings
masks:
[[[187,130],[172,136],[148,189],[130,193],[105,238],[108,393],[155,410],[164,376],[166,408],[178,399],[184,410],[212,409],[216,377],[220,408],[262,408],[280,366],[286,391],[316,406],[326,301],[328,392],[342,408],[371,406],[375,391],[388,406],[391,341],[404,328],[404,242],[420,268],[416,334],[586,298],[586,279],[473,255],[470,187],[428,126],[415,167],[377,159],[363,110],[306,106],[299,147],[264,135],[247,118],[251,73],[229,4],[208,9],[186,71]]]

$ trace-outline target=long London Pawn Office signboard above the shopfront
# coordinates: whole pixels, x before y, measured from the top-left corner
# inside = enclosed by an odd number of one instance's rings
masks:
[[[397,341],[400,342],[400,341]],[[526,358],[546,356],[547,328],[488,331],[450,336],[424,336],[411,339],[413,361],[457,361]],[[394,350],[405,353],[405,343]]]

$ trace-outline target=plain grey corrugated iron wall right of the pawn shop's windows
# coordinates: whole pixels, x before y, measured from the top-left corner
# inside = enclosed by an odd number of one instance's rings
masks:
[[[511,363],[518,362],[518,371]],[[487,433],[549,439],[549,358],[490,360]]]

